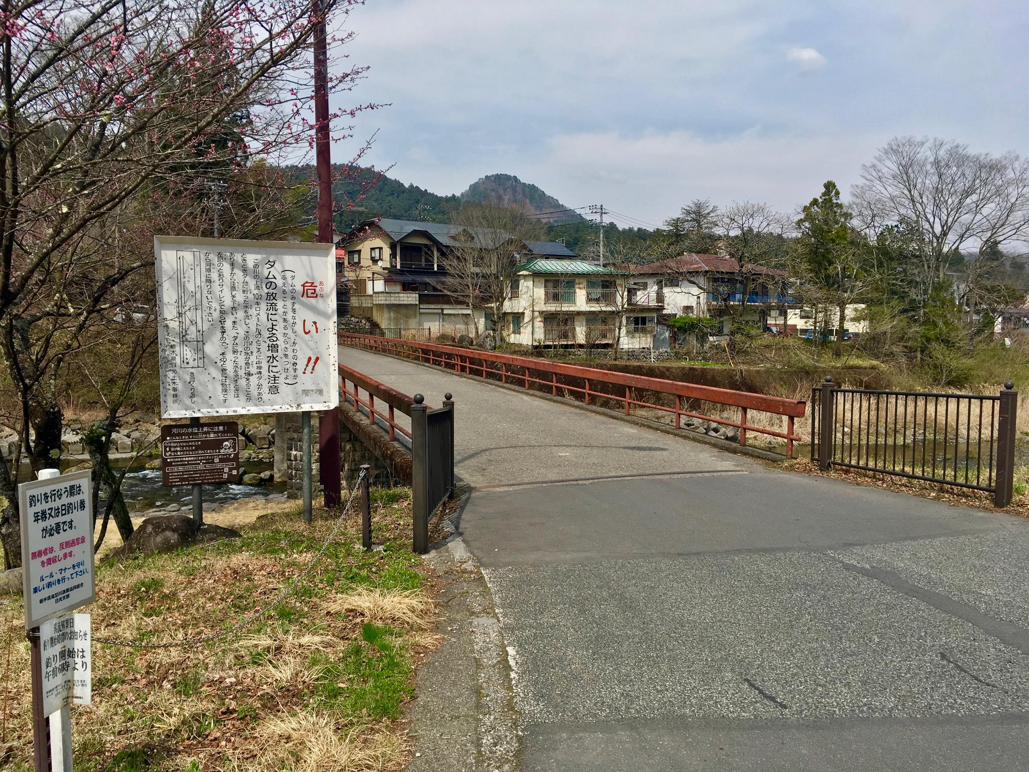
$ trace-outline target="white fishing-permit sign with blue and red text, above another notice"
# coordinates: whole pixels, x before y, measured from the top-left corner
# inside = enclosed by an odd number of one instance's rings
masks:
[[[17,487],[26,629],[96,600],[92,473]]]

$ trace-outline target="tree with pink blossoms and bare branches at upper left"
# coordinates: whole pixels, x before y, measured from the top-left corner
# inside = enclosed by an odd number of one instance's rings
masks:
[[[303,224],[284,217],[297,194],[276,165],[313,147],[317,25],[333,20],[334,51],[357,2],[0,1],[0,389],[33,470],[61,454],[69,358],[109,334],[130,289],[152,293],[138,280],[150,237],[206,220],[209,180],[227,186],[223,236]],[[328,90],[350,91],[365,68],[336,61]],[[0,463],[8,566],[16,469]]]

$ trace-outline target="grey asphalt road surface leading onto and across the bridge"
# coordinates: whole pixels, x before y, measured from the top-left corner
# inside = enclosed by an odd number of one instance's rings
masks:
[[[340,358],[454,395],[522,769],[1024,768],[1029,522]]]

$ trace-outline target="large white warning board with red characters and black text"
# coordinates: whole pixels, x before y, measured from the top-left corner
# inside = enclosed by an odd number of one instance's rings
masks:
[[[335,247],[157,236],[164,418],[339,405]]]

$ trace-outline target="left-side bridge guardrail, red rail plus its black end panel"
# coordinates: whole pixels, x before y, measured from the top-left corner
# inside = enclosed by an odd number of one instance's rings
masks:
[[[352,388],[347,388],[348,383]],[[355,409],[364,408],[368,423],[381,429],[390,442],[396,441],[398,432],[411,441],[414,550],[427,553],[429,520],[443,501],[454,496],[454,400],[447,394],[443,406],[432,409],[421,394],[407,396],[344,364],[340,365],[340,395]],[[385,412],[377,408],[377,399],[387,407]],[[410,431],[397,422],[397,411],[411,418]],[[385,429],[379,421],[386,425]]]

